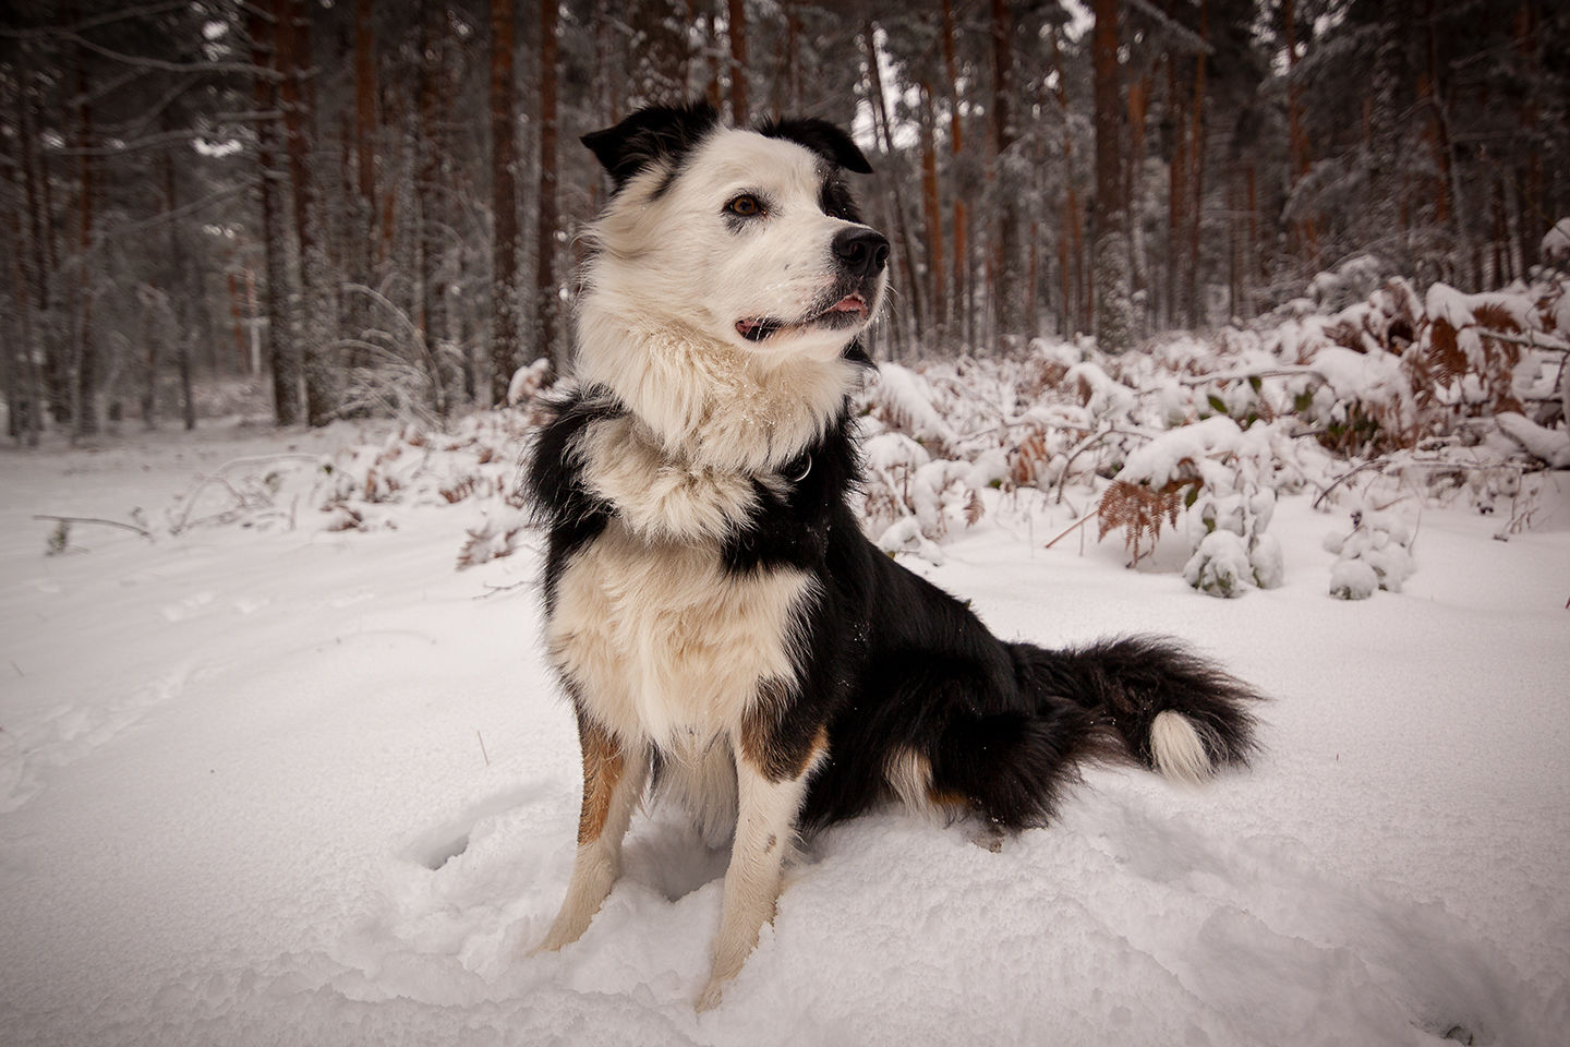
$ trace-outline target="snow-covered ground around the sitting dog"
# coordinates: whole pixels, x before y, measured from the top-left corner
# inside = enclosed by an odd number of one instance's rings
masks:
[[[342,436],[243,432],[0,452],[6,1044],[1564,1042],[1562,472],[1509,543],[1427,512],[1405,593],[1350,604],[1306,498],[1272,524],[1286,586],[1242,600],[1126,571],[1116,537],[1044,551],[1068,510],[917,562],[1006,637],[1192,639],[1275,695],[1269,752],[1203,791],[1094,771],[1000,854],[903,813],[832,830],[699,1016],[724,855],[659,812],[587,936],[526,954],[578,753],[537,556],[454,571],[476,509],[44,556],[33,513],[151,516]]]

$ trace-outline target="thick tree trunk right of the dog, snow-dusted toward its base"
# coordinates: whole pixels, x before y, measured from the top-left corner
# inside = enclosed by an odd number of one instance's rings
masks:
[[[1096,93],[1096,344],[1121,353],[1134,341],[1129,239],[1123,202],[1123,86],[1118,69],[1118,0],[1096,0],[1091,38]]]

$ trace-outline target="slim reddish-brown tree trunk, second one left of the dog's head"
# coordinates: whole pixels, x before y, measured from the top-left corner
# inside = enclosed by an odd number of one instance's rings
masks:
[[[513,0],[491,0],[491,344],[490,403],[507,403],[518,369],[518,204],[513,196]]]

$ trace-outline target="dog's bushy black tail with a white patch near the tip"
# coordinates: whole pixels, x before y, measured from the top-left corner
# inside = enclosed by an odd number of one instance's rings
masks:
[[[1020,691],[1041,716],[1072,705],[1112,727],[1123,755],[1176,782],[1245,764],[1256,749],[1259,694],[1176,640],[1135,636],[1049,651],[1010,644]],[[1105,753],[1099,753],[1105,755]]]

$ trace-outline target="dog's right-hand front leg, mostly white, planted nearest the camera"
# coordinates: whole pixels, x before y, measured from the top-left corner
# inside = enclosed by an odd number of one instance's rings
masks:
[[[754,763],[746,746],[738,747],[736,840],[725,870],[724,912],[699,1011],[719,1003],[724,983],[736,976],[758,943],[758,931],[774,918],[780,866],[796,837],[809,771],[810,764],[796,777],[772,777]]]

